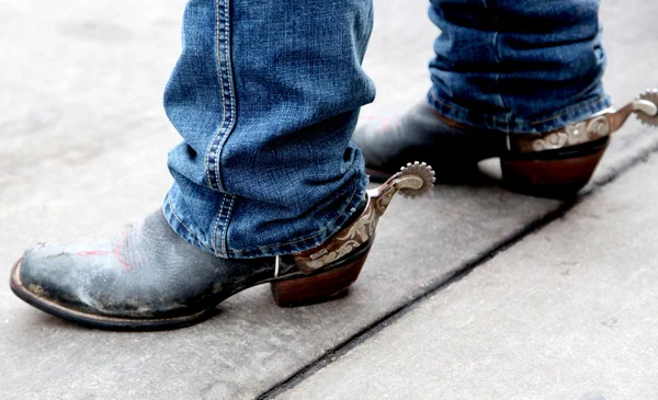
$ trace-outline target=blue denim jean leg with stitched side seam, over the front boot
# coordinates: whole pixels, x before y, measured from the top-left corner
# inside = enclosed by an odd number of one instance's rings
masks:
[[[308,250],[364,196],[350,141],[374,99],[361,68],[372,0],[191,0],[164,107],[171,227],[202,250],[256,258]]]

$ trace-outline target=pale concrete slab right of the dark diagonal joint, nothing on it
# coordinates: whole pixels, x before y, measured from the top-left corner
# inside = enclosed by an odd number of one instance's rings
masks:
[[[656,399],[658,158],[277,399]]]

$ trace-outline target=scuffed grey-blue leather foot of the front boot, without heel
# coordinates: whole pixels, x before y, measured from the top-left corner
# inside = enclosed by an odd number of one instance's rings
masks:
[[[343,259],[360,256],[370,245]],[[279,267],[275,278],[273,256],[227,260],[201,251],[158,210],[111,240],[27,250],[12,271],[11,287],[29,304],[75,322],[166,329],[200,322],[215,305],[247,287],[307,275],[293,256],[282,256]]]

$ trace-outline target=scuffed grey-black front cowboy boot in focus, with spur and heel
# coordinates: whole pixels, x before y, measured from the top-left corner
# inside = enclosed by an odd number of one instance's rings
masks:
[[[39,244],[11,272],[11,288],[50,315],[116,330],[190,325],[248,287],[271,283],[281,306],[325,301],[356,279],[392,197],[432,186],[431,168],[416,164],[368,191],[341,231],[298,254],[220,259],[179,237],[157,210],[121,235],[90,243]]]

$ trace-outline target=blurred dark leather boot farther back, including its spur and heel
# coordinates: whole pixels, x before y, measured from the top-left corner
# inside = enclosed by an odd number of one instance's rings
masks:
[[[606,108],[555,130],[504,134],[461,125],[422,101],[392,124],[360,123],[352,139],[373,180],[400,159],[423,159],[441,170],[444,182],[469,182],[477,162],[500,158],[502,185],[538,197],[576,195],[591,179],[612,134],[631,114],[658,126],[658,90],[646,90],[615,111]]]

